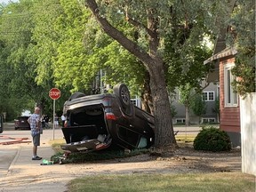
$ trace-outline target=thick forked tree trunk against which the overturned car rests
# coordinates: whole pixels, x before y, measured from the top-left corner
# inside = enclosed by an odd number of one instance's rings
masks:
[[[124,36],[121,31],[114,28],[108,22],[106,17],[100,13],[100,9],[95,0],[85,0],[85,3],[108,36],[114,38],[119,44],[124,46],[126,50],[137,57],[148,70],[150,77],[150,91],[153,99],[153,114],[155,116],[155,146],[162,147],[170,144],[176,145],[172,126],[171,105],[164,78],[164,62],[157,52],[159,45],[159,36],[157,34],[158,19],[151,15],[154,10],[148,10],[148,27],[146,28],[144,26],[144,29],[146,29],[148,33],[149,45],[148,52],[145,52],[140,49],[138,44],[132,42],[132,40]],[[136,20],[132,20],[131,22],[135,25],[138,24]]]

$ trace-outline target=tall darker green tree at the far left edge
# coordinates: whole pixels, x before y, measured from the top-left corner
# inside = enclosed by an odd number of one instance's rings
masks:
[[[35,50],[37,41],[34,38],[36,32],[34,30],[36,26],[34,5],[34,2],[28,0],[7,4],[2,7],[0,14],[0,40],[3,42],[3,52],[0,52],[3,60],[0,64],[6,75],[10,72],[9,78],[3,79],[2,84],[6,84],[6,89],[1,98],[9,100],[5,103],[10,103],[10,106],[15,108],[12,118],[20,116],[23,109],[33,111],[35,103],[42,108],[43,113],[52,111],[52,100],[48,95],[53,86],[53,79],[50,78],[52,74],[45,72],[47,67],[37,68],[38,52],[43,54],[44,50]],[[44,38],[41,36],[41,39]],[[46,56],[44,60],[47,60]],[[48,76],[44,84],[36,80],[42,74]],[[60,104],[58,101],[57,105]],[[59,108],[62,109],[63,103],[64,101]],[[10,115],[10,112],[8,114]]]

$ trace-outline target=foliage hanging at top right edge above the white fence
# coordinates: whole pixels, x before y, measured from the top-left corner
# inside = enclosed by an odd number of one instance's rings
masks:
[[[229,20],[228,43],[236,46],[236,66],[232,73],[238,78],[233,82],[236,92],[256,92],[255,76],[255,9],[254,2],[237,1]]]

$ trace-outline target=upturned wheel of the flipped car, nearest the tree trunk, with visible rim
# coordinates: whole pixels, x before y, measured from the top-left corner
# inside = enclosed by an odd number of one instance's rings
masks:
[[[114,94],[119,98],[123,108],[131,107],[131,96],[125,84],[116,84],[113,87]]]

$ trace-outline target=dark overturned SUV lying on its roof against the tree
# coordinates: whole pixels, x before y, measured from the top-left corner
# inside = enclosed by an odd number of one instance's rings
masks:
[[[90,152],[118,146],[149,148],[154,144],[154,116],[134,106],[125,84],[113,93],[85,96],[76,92],[65,102],[62,132],[68,152]]]

